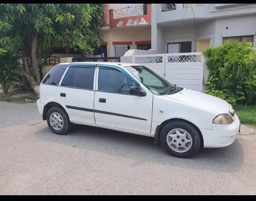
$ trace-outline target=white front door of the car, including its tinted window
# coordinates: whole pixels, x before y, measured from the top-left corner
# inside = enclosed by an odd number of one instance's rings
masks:
[[[99,125],[150,133],[153,94],[129,93],[137,83],[121,70],[99,66],[96,80],[94,116]]]

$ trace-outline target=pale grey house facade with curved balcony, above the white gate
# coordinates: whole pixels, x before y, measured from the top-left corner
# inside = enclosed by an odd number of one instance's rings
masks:
[[[157,53],[202,52],[235,39],[256,47],[256,4],[152,4]]]

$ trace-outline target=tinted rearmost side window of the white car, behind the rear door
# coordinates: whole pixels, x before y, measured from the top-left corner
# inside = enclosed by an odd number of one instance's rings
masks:
[[[65,72],[68,65],[57,65],[55,68],[52,69],[48,75],[43,79],[42,83],[44,84],[52,84],[52,85],[58,85],[59,81]]]

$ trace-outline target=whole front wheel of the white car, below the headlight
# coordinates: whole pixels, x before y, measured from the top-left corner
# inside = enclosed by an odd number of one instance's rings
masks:
[[[172,121],[160,133],[161,144],[172,156],[187,158],[197,153],[201,145],[201,134],[190,123]]]

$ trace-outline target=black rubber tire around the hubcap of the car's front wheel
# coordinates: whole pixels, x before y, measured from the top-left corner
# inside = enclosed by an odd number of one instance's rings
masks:
[[[167,135],[172,129],[180,128],[183,130],[186,130],[192,140],[192,145],[190,149],[183,153],[178,153],[170,148],[167,142]],[[180,138],[180,137],[179,137]],[[172,121],[170,123],[167,123],[160,133],[160,140],[163,148],[172,156],[179,157],[179,158],[188,158],[196,154],[200,148],[200,145],[202,143],[201,140],[201,134],[199,131],[195,128],[194,125],[187,123],[185,121]],[[178,140],[178,139],[177,139]],[[179,144],[180,145],[180,144]]]

